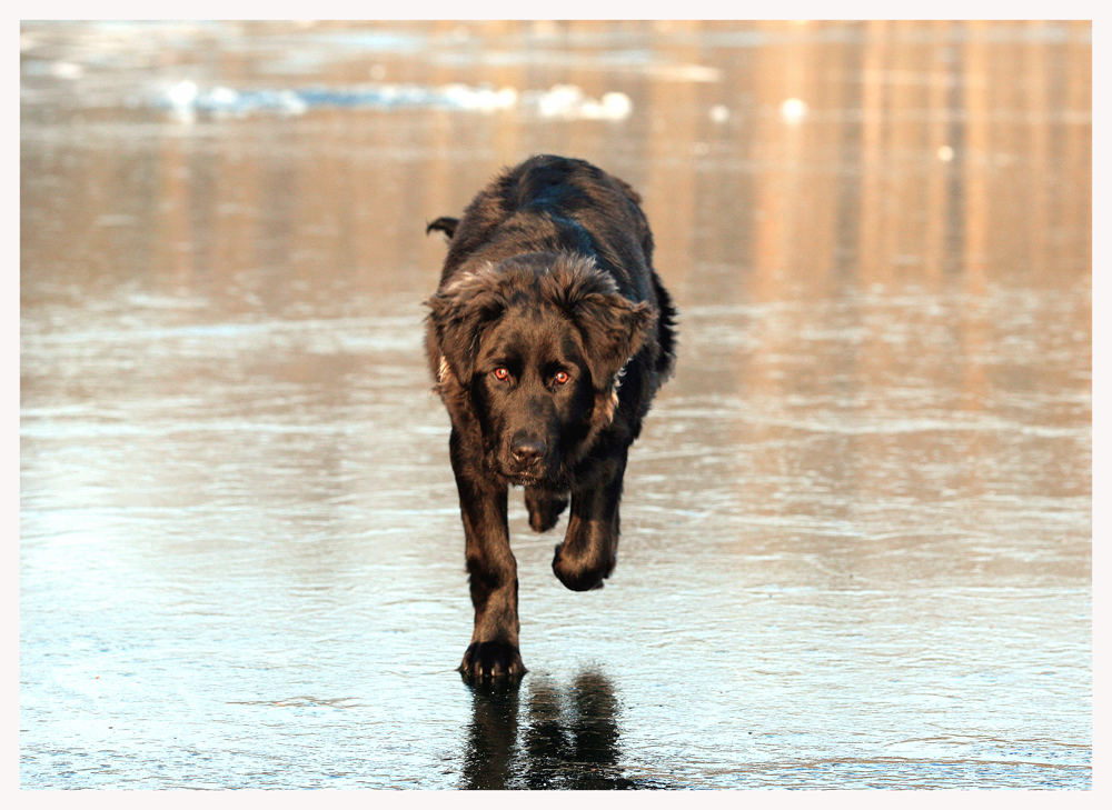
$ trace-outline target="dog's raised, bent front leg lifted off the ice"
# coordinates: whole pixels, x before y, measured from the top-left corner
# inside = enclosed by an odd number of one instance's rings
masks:
[[[603,461],[589,486],[572,490],[572,516],[564,542],[556,547],[553,571],[573,591],[602,588],[618,552],[618,503],[625,476],[622,448]]]

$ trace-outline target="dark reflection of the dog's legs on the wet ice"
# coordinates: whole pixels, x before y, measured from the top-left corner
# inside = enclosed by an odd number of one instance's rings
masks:
[[[638,787],[618,767],[618,706],[595,670],[560,688],[543,676],[525,684],[473,687],[460,787],[478,790],[613,790]],[[524,701],[524,712],[520,704]]]

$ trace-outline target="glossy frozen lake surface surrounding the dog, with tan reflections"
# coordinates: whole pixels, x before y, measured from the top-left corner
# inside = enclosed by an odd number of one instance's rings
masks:
[[[23,24],[24,788],[1092,784],[1086,24]],[[499,168],[681,309],[473,690],[421,301]],[[513,494],[513,493],[512,493]]]

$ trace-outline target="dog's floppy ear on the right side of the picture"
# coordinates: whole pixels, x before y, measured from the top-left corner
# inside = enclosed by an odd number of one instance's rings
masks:
[[[614,280],[593,262],[556,268],[552,278],[554,289],[548,292],[583,336],[595,390],[610,391],[615,376],[648,337],[656,311],[619,293]]]

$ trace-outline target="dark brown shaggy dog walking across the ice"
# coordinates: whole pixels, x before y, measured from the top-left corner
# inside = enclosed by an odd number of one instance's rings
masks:
[[[465,677],[525,672],[509,484],[525,487],[535,531],[570,499],[553,560],[565,586],[600,588],[614,569],[626,456],[675,361],[639,202],[589,163],[539,156],[427,228],[449,239],[426,349],[451,418],[475,606]]]

